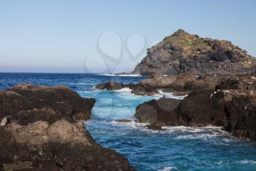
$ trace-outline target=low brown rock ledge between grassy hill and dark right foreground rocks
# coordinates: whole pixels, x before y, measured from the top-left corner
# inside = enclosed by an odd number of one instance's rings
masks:
[[[138,84],[114,82],[101,83],[96,88],[116,90],[130,88],[132,94],[154,95],[159,90],[164,93],[189,94],[192,92],[214,92],[217,89],[238,89],[241,91],[256,90],[256,72],[246,75],[207,75],[197,72],[184,72],[179,75],[150,77]]]

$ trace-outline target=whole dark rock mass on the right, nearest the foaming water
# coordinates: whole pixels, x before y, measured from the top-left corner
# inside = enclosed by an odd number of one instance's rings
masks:
[[[183,100],[159,99],[136,108],[140,122],[159,126],[223,126],[237,137],[256,140],[255,91],[218,90],[192,93]]]

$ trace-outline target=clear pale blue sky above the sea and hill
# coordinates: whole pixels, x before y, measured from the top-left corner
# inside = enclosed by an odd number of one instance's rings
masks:
[[[183,28],[256,56],[255,0],[0,0],[0,72],[130,72]]]

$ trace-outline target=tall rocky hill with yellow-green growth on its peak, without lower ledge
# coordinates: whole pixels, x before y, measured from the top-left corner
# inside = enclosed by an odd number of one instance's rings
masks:
[[[254,72],[255,58],[231,42],[200,38],[178,30],[148,49],[147,56],[132,74],[178,75],[196,71],[234,75]]]

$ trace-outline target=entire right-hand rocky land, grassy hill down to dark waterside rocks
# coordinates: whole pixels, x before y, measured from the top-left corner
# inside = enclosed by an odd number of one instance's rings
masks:
[[[223,126],[237,137],[256,139],[256,59],[229,41],[200,38],[179,29],[148,49],[132,74],[147,75],[138,84],[110,80],[96,88],[130,88],[132,94],[159,89],[188,94],[183,100],[162,98],[136,108],[149,129],[162,126]]]

